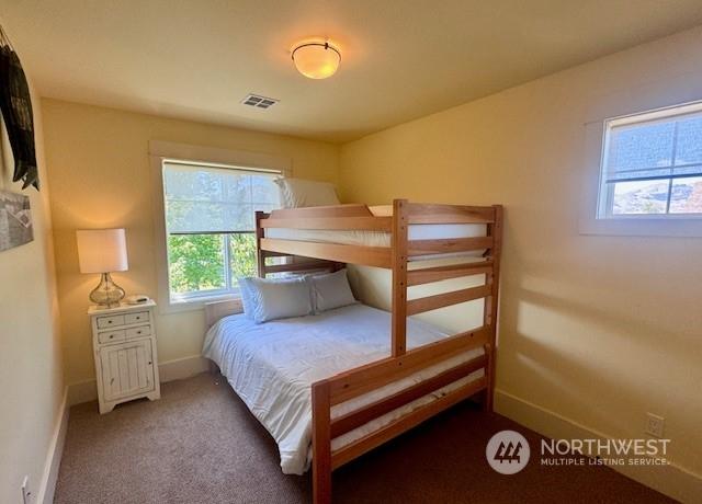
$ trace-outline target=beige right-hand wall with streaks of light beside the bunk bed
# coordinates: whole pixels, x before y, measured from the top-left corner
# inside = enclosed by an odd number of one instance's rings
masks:
[[[344,145],[340,171],[347,202],[503,204],[498,389],[613,437],[660,414],[698,474],[702,239],[581,236],[578,202],[590,112],[701,66],[687,32]]]

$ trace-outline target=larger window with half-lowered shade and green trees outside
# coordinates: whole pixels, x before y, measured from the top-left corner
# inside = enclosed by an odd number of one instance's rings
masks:
[[[256,210],[279,207],[281,172],[166,160],[163,203],[171,302],[237,295],[256,274]]]

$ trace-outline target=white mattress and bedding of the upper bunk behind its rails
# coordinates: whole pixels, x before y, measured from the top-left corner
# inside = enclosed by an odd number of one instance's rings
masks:
[[[392,206],[371,206],[376,217],[392,215]],[[407,230],[409,240],[433,240],[444,238],[473,238],[486,236],[484,224],[414,224]],[[344,245],[390,247],[390,233],[385,231],[344,231],[324,229],[268,228],[267,238],[280,240],[314,241],[318,243],[340,243]],[[484,251],[472,251],[457,255],[480,256]],[[451,254],[456,255],[456,254]],[[428,256],[416,257],[427,259]]]

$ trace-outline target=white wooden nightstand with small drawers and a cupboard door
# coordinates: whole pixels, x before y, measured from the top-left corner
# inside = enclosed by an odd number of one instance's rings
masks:
[[[156,302],[88,309],[92,325],[100,413],[139,398],[160,399]]]

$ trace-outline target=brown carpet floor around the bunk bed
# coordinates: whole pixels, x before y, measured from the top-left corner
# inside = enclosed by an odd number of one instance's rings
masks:
[[[670,502],[602,467],[530,462],[500,476],[485,459],[490,436],[539,435],[469,403],[335,472],[336,503]],[[305,503],[309,476],[281,472],[275,443],[220,377],[165,383],[162,399],[98,414],[73,406],[55,502]]]

